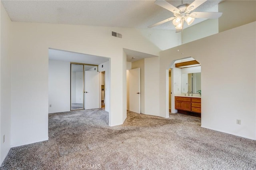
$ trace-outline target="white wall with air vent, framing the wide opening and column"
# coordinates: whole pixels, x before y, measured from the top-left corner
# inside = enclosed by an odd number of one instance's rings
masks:
[[[120,32],[122,38],[111,36],[111,31]],[[122,63],[126,62],[123,48],[152,55],[159,55],[160,51],[140,29],[12,22],[11,32],[15,49],[11,51],[12,146],[48,139],[49,47],[111,58],[111,126],[122,124],[125,114],[125,85],[120,81],[124,76]],[[159,32],[152,30],[152,34]],[[168,38],[158,41],[165,40]]]

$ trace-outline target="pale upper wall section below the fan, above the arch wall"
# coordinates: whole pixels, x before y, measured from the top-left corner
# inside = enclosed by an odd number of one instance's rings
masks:
[[[218,19],[208,19],[182,30],[182,43],[199,40],[219,32]]]

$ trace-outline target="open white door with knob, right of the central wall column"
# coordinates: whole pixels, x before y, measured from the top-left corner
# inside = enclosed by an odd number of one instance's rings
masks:
[[[140,113],[140,68],[129,70],[129,111]]]

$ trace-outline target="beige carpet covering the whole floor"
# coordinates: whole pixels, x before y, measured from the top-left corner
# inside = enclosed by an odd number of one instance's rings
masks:
[[[200,118],[129,113],[108,126],[103,109],[49,114],[49,140],[11,148],[1,170],[255,170],[256,141],[200,127]]]

